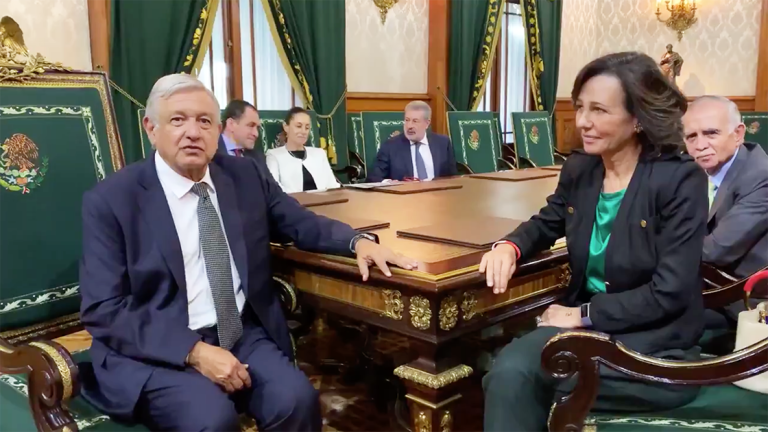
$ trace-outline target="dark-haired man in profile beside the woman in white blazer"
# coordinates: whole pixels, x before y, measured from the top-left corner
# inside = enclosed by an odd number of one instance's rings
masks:
[[[254,150],[261,127],[256,107],[244,100],[233,100],[221,114],[221,125],[223,131],[219,136],[219,153],[238,157],[254,157],[259,154],[258,150]]]

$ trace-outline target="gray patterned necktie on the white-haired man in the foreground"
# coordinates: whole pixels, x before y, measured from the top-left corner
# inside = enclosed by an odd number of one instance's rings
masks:
[[[203,248],[205,271],[216,307],[219,346],[229,350],[243,335],[243,322],[237,310],[235,287],[232,282],[229,246],[221,228],[219,213],[208,195],[208,187],[205,183],[195,183],[192,192],[200,197],[197,201],[197,223],[200,226],[200,245]]]

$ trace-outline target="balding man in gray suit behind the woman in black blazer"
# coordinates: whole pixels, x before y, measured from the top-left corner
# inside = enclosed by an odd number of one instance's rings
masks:
[[[685,145],[709,177],[709,220],[702,261],[745,278],[768,266],[768,155],[744,142],[739,108],[721,96],[702,96],[683,117]],[[708,328],[733,327],[743,302],[707,319]]]

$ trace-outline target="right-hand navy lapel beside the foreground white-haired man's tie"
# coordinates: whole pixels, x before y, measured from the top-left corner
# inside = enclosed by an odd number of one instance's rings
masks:
[[[243,238],[243,221],[240,218],[240,207],[237,204],[237,195],[235,194],[235,183],[215,163],[211,163],[209,169],[211,170],[213,185],[216,187],[216,198],[219,201],[221,219],[224,221],[229,248],[235,260],[243,290],[247,293],[248,256]]]

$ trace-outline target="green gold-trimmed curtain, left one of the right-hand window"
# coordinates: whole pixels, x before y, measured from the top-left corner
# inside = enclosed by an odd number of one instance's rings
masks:
[[[458,111],[474,111],[480,104],[496,54],[504,3],[451,1],[448,99]]]

